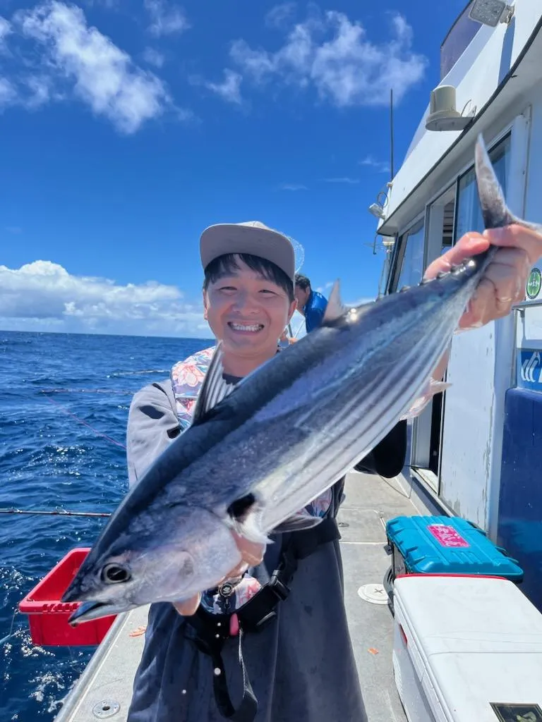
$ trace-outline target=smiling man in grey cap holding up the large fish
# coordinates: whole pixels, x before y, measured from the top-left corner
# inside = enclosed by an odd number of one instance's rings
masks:
[[[522,297],[530,264],[542,255],[542,238],[520,227],[499,234],[491,231],[488,238],[508,248],[499,251],[487,269],[476,300],[461,320],[462,328],[508,313]],[[488,238],[464,237],[431,264],[427,275],[435,276],[480,253],[489,245]],[[278,339],[296,308],[293,248],[282,234],[249,222],[207,228],[200,240],[200,255],[205,271],[205,318],[223,342],[225,378],[235,382],[278,352]],[[135,394],[127,430],[131,484],[189,425],[211,354],[212,349],[205,349],[179,362],[170,378]],[[441,373],[439,366],[435,378]],[[382,455],[374,453],[372,462],[365,460],[367,466],[373,464],[368,470],[394,476],[403,467],[405,422],[398,423],[391,438],[396,443],[382,442],[392,455],[386,469],[378,466]],[[231,570],[217,588],[183,604],[151,605],[128,722],[222,722],[224,716],[232,718],[231,700],[241,699],[236,722],[366,722],[335,534],[342,486],[343,482],[337,482],[303,510],[309,516],[324,517],[314,530],[272,535],[275,544],[266,549],[236,538],[244,564]],[[322,527],[327,538],[317,531]],[[320,536],[311,536],[313,531]],[[303,556],[299,545],[307,539],[314,544]],[[285,559],[284,552],[292,550],[299,556],[288,581],[287,599],[278,602],[261,631],[243,630],[241,637],[237,614],[241,616],[259,599],[260,590],[269,588],[273,570]],[[171,568],[174,573],[174,564]],[[212,627],[212,619],[220,622]],[[212,656],[205,630],[212,627],[218,637],[223,628],[219,624],[228,625],[231,635],[226,634],[220,655]],[[238,658],[240,650],[244,667]],[[247,680],[259,703],[255,715]]]

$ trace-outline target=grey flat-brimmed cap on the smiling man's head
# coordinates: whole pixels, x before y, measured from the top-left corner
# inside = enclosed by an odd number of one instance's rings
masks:
[[[225,253],[251,253],[271,261],[293,282],[296,260],[289,238],[260,221],[218,223],[209,226],[199,239],[199,255],[203,268]]]

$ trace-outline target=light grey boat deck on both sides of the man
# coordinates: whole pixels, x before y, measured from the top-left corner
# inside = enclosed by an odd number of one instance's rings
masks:
[[[365,585],[382,585],[390,567],[384,524],[402,514],[426,513],[410,499],[403,477],[348,474],[338,521],[345,570],[345,604],[370,722],[405,722],[392,672],[393,618],[386,604],[366,601]],[[419,501],[416,500],[418,507]],[[366,591],[371,594],[371,587]],[[363,591],[361,592],[363,595]],[[132,680],[142,653],[147,607],[119,616],[56,716],[55,722],[126,722]],[[354,721],[352,721],[354,722]]]

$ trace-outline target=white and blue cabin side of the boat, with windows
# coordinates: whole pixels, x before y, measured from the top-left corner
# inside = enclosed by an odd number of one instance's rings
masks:
[[[471,20],[471,6],[443,43],[440,83],[455,87],[456,108],[470,121],[434,131],[426,129],[429,105],[423,114],[379,222],[379,234],[395,239],[386,292],[418,283],[465,231],[483,230],[473,177],[478,133],[512,212],[542,222],[542,3],[516,0],[512,19],[496,27]],[[505,547],[542,610],[540,269],[507,318],[454,336],[452,386],[410,423],[405,476]]]

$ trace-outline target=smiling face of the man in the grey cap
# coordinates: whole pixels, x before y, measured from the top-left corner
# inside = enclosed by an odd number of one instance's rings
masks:
[[[238,270],[210,283],[203,294],[205,318],[225,353],[272,356],[296,301],[242,261]]]

